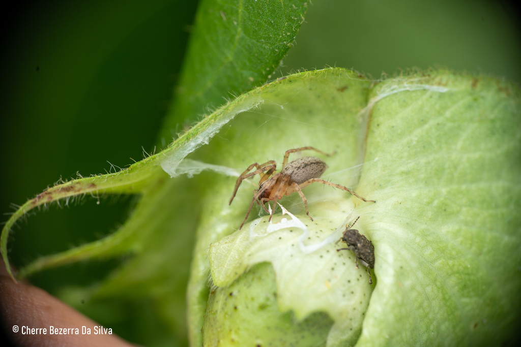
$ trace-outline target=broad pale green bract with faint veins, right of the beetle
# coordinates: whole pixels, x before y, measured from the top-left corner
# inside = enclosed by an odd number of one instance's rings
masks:
[[[364,182],[378,200],[366,225],[379,283],[359,343],[511,342],[521,304],[519,88],[448,73],[403,83],[446,92],[393,94],[373,108]]]

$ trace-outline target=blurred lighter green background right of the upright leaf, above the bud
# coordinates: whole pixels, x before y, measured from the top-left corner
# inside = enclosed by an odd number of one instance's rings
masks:
[[[282,73],[354,68],[380,78],[446,67],[521,82],[521,22],[512,2],[320,1],[306,16]]]

